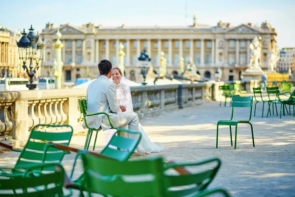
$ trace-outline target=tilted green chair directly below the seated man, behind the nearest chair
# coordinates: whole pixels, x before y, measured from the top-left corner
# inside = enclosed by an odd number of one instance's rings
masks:
[[[124,137],[122,135],[116,135],[118,132],[129,133],[130,138]],[[108,145],[98,155],[111,158],[119,162],[127,161],[136,149],[138,143],[140,142],[141,136],[142,135],[140,132],[118,129],[118,131],[114,133],[114,135],[112,136]],[[123,151],[123,149],[128,151]],[[73,182],[74,188],[81,188],[81,185],[84,180],[84,174],[80,175],[77,179],[73,180],[76,162],[78,160],[78,157],[80,157],[80,153],[81,151],[79,151],[76,155],[70,175],[70,179]]]

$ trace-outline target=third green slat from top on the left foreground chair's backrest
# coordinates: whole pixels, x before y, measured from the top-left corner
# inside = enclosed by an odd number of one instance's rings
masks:
[[[43,158],[44,152],[32,152],[32,151],[24,151],[22,154],[23,159],[27,160],[39,160],[41,161]],[[59,161],[64,155],[63,151],[59,152],[47,152],[45,156],[45,161]]]

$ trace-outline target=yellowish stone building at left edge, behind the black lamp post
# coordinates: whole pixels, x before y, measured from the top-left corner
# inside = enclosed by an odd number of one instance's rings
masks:
[[[16,40],[20,33],[11,32],[0,25],[0,77],[17,77],[20,72]]]

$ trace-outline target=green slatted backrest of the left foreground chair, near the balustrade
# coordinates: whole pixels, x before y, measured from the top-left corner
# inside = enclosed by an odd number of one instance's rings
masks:
[[[38,127],[68,127],[70,131],[37,131]],[[17,169],[26,169],[36,164],[59,164],[65,152],[54,147],[48,146],[47,142],[53,141],[68,146],[73,134],[73,128],[70,125],[36,125],[32,128],[27,144],[22,150],[13,171]],[[42,170],[52,171],[51,167],[42,168]]]

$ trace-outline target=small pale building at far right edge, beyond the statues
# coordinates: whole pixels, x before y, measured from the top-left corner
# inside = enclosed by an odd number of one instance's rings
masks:
[[[292,73],[295,71],[295,48],[282,48],[280,50],[280,60],[277,64],[277,71],[280,73],[288,73],[291,68]]]

